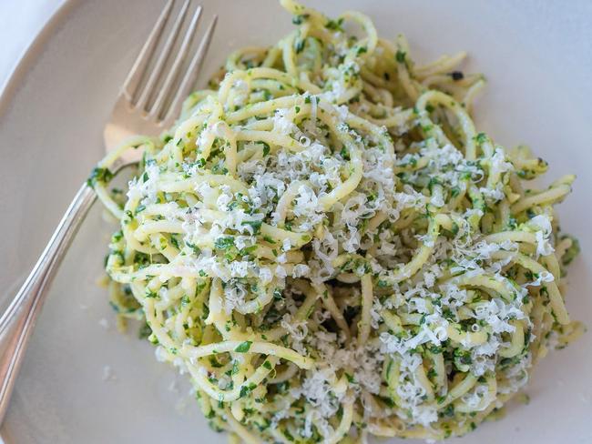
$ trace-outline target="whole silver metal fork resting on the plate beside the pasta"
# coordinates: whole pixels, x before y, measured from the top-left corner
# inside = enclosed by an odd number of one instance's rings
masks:
[[[189,60],[189,50],[198,28],[202,8],[197,6],[180,44],[176,45],[182,34],[183,23],[192,9],[191,0],[185,0],[170,26],[161,49],[157,50],[174,3],[175,0],[168,0],[164,6],[121,88],[103,134],[107,153],[128,136],[158,136],[165,128],[171,126],[179,115],[183,99],[189,95],[197,79],[218,17],[214,15],[195,55],[183,73],[182,66]],[[167,71],[166,67],[172,56],[174,59]],[[183,76],[180,77],[181,75]],[[122,167],[137,163],[141,156],[141,150],[128,150],[127,154],[117,160],[112,172],[117,173]],[[80,187],[33,271],[0,317],[0,341],[4,343],[4,350],[0,356],[0,424],[5,418],[15,379],[25,356],[26,345],[46,299],[47,290],[62,259],[66,256],[67,248],[78,227],[95,200],[96,195],[91,187],[86,183]]]

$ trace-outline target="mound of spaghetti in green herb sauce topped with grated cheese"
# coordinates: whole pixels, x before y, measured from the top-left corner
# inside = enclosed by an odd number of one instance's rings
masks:
[[[281,5],[291,34],[89,179],[120,223],[111,304],[233,442],[463,435],[582,331],[553,209],[574,177],[525,187],[546,162],[475,129],[464,53],[416,66],[365,15]]]

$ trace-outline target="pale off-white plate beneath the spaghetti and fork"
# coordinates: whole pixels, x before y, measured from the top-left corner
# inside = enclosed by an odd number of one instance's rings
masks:
[[[309,2],[310,4],[312,2]],[[206,71],[230,48],[271,44],[291,29],[273,1],[203,0],[221,19]],[[162,3],[71,2],[46,26],[0,102],[0,308],[33,265],[66,204],[102,156],[101,131],[142,38]],[[567,6],[568,5],[568,6]],[[327,1],[326,12],[358,9],[382,35],[405,33],[427,61],[466,49],[489,85],[476,114],[507,146],[528,143],[550,161],[548,180],[578,179],[562,223],[584,253],[570,268],[567,306],[592,325],[592,3],[586,0]],[[3,436],[9,443],[225,442],[191,399],[169,390],[174,373],[147,343],[121,336],[97,288],[107,227],[95,208],[68,254],[27,352]],[[103,380],[106,366],[115,378]],[[589,335],[546,358],[527,390],[528,406],[458,442],[592,442]],[[185,407],[179,405],[185,403]]]

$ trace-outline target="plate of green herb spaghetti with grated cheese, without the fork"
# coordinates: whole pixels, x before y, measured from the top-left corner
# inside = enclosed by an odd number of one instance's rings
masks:
[[[7,442],[592,440],[586,2],[203,2],[199,85],[114,177],[140,3],[66,4],[3,96],[6,300],[102,204]]]

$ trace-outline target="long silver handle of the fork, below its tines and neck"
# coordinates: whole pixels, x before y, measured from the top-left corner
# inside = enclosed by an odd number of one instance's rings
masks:
[[[80,187],[31,274],[0,318],[0,344],[4,348],[0,355],[0,424],[5,418],[27,342],[46,299],[47,289],[95,199],[96,194],[91,187],[86,183]]]

